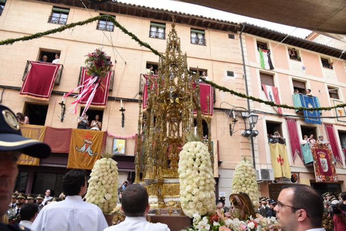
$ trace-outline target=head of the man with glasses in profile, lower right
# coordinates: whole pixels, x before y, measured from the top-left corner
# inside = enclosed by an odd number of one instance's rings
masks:
[[[321,228],[323,201],[310,186],[283,186],[274,211],[276,219],[285,231],[324,231]]]

